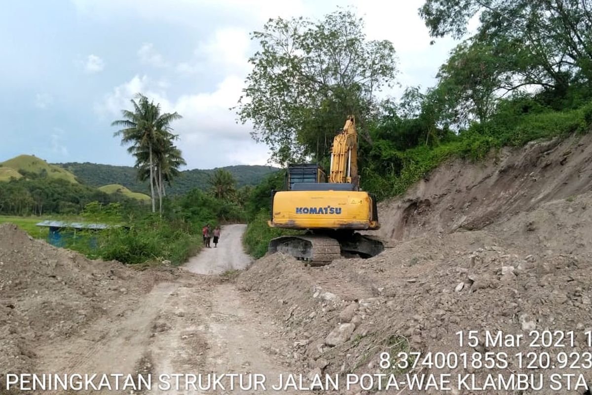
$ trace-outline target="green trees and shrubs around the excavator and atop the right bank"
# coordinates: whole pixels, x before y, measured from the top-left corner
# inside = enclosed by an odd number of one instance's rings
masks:
[[[280,163],[307,157],[326,166],[334,131],[355,114],[361,185],[381,199],[403,194],[448,159],[480,160],[503,146],[590,131],[585,2],[425,0],[420,15],[435,38],[463,37],[480,15],[477,33],[451,52],[432,88],[378,99],[374,92],[394,83],[394,50],[367,41],[352,12],[321,23],[277,18],[252,34],[262,50],[250,59],[239,117],[252,121],[253,138]],[[278,179],[265,179],[246,204],[244,243],[257,257],[282,233],[266,226],[269,192],[278,188]]]

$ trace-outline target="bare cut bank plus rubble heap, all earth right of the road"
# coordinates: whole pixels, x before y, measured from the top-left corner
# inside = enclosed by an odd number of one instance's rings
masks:
[[[477,380],[530,374],[515,357],[533,351],[530,330],[574,330],[574,347],[545,349],[552,358],[588,351],[591,190],[592,136],[503,150],[484,163],[448,163],[403,198],[381,204],[381,235],[398,240],[393,248],[322,268],[268,255],[241,275],[239,288],[284,323],[292,341],[286,354],[305,374],[389,373],[379,366],[380,354],[400,351],[505,351],[507,368],[445,371],[474,373]],[[478,330],[480,344],[459,346],[460,330],[465,336]],[[510,349],[485,345],[486,330],[527,341]],[[411,372],[443,371],[420,365]],[[565,372],[581,371],[536,370],[547,380]],[[546,386],[536,393],[557,392]],[[584,390],[564,386],[561,393]]]

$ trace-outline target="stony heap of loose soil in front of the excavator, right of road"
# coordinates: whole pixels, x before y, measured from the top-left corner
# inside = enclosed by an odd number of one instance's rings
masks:
[[[512,372],[531,373],[518,368],[514,357],[533,350],[530,330],[574,330],[575,347],[567,350],[588,350],[584,332],[592,328],[590,284],[589,259],[509,247],[485,231],[420,237],[374,258],[340,259],[323,268],[305,267],[301,261],[275,254],[257,261],[239,279],[239,287],[253,303],[266,301],[262,308],[284,325],[284,335],[293,342],[285,353],[305,375],[322,371],[343,377],[389,373],[379,366],[381,353],[394,358],[403,351],[422,355],[503,351],[509,354]],[[456,333],[461,330],[465,336],[468,330],[478,330],[480,345],[459,346]],[[487,330],[494,335],[522,334],[527,341],[511,349],[486,347]],[[545,349],[552,355],[565,350]],[[445,372],[453,377],[472,372],[477,377],[509,374],[426,366],[414,372]],[[570,373],[569,369],[538,372]]]

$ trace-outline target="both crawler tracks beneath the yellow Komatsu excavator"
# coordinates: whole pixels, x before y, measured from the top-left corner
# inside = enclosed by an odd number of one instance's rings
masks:
[[[342,256],[369,258],[384,251],[382,240],[359,233],[334,235],[281,236],[269,242],[269,252],[282,252],[311,266],[330,264]]]

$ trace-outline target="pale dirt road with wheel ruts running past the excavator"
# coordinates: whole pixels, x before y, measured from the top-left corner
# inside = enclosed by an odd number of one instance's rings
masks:
[[[282,358],[269,352],[282,343],[274,323],[246,303],[233,283],[191,273],[246,268],[250,258],[242,250],[244,229],[224,227],[218,248],[192,258],[185,266],[188,273],[178,281],[160,283],[144,296],[113,300],[107,315],[80,336],[38,349],[38,371],[151,374],[155,384],[142,392],[147,394],[264,393],[228,387],[164,390],[156,385],[163,374],[263,374],[269,383],[265,393],[271,393],[278,375],[288,373]],[[184,386],[184,379],[180,381]]]

